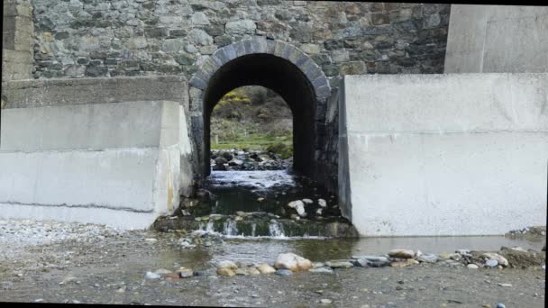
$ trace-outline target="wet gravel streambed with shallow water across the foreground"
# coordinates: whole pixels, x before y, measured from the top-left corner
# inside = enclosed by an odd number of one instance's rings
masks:
[[[181,239],[196,237],[209,239],[211,244],[180,247]],[[469,268],[463,257],[455,258],[458,254],[454,251],[502,254],[501,246],[519,246],[525,251],[534,249],[544,262],[545,252],[539,250],[545,245],[545,236],[534,240],[502,236],[285,240],[221,236],[215,240],[218,237],[203,231],[196,236],[116,231],[67,222],[0,221],[0,301],[273,307],[544,306],[545,270],[540,264],[498,268],[479,258],[479,268]],[[388,251],[402,248],[412,249],[415,255],[421,250],[438,259],[435,263],[414,261],[406,267],[335,267],[331,273],[297,271],[288,276],[221,276],[216,271],[223,261],[240,267],[273,266],[279,254],[287,252],[316,265],[352,256],[390,258]],[[192,275],[179,278],[188,270]]]

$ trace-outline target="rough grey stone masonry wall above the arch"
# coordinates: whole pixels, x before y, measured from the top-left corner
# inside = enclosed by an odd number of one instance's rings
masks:
[[[260,35],[328,77],[442,73],[450,5],[281,0],[31,0],[35,78],[185,75]]]

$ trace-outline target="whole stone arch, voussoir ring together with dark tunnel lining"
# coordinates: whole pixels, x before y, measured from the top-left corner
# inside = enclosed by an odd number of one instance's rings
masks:
[[[293,113],[294,169],[315,174],[318,122],[331,86],[322,69],[302,50],[284,41],[256,37],[216,50],[189,82],[196,146],[196,176],[209,175],[209,123],[215,104],[239,86],[265,86],[281,95]]]

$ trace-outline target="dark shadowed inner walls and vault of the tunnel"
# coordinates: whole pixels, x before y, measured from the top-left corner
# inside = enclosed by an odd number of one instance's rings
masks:
[[[250,54],[233,59],[209,79],[204,93],[204,175],[210,175],[210,124],[215,104],[240,86],[264,86],[277,92],[293,114],[293,170],[312,176],[315,168],[314,86],[293,63],[270,54]]]

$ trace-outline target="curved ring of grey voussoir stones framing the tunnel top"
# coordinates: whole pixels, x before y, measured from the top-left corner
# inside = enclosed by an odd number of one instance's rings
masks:
[[[216,50],[200,65],[196,74],[190,79],[189,86],[205,91],[209,78],[224,64],[233,59],[256,53],[270,54],[293,63],[314,86],[317,101],[323,101],[331,95],[331,86],[329,86],[329,80],[325,77],[322,68],[315,64],[314,60],[310,59],[303,50],[299,50],[287,42],[267,40],[264,37],[238,41]]]

